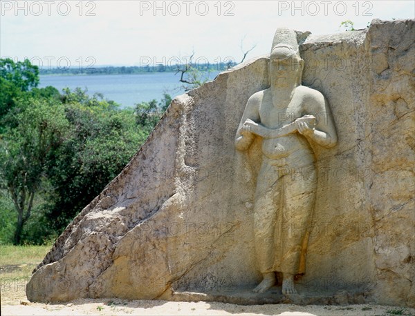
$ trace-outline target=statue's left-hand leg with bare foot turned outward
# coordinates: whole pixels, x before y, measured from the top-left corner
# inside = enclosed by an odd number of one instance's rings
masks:
[[[263,293],[275,285],[274,231],[279,206],[279,181],[275,168],[264,162],[259,171],[254,204],[255,252],[258,268],[264,279],[254,289]]]

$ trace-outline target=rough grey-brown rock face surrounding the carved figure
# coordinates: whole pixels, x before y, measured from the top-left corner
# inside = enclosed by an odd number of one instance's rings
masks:
[[[303,84],[328,99],[338,132],[335,148],[315,146],[317,202],[300,294],[358,292],[362,302],[415,305],[414,24],[299,33]],[[261,140],[237,152],[234,135],[268,77],[268,57],[259,57],[176,97],[126,168],[57,239],[28,299],[175,299],[254,287]]]

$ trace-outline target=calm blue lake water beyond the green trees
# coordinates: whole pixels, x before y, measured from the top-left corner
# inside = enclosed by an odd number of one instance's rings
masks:
[[[219,72],[211,72],[210,80]],[[73,75],[40,76],[39,88],[53,86],[62,92],[63,88],[87,88],[88,94],[100,92],[104,98],[116,101],[124,108],[141,101],[160,100],[163,92],[172,97],[181,95],[184,89],[178,82],[180,74],[174,72],[150,72],[138,75]]]

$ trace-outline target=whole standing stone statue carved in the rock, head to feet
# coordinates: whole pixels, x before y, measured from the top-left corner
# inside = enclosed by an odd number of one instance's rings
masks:
[[[270,88],[248,99],[235,146],[247,150],[262,137],[262,164],[254,204],[255,250],[263,293],[282,273],[282,293],[296,293],[305,273],[308,226],[315,204],[317,170],[311,144],[337,143],[329,103],[302,86],[304,61],[293,30],[278,29],[270,54]]]

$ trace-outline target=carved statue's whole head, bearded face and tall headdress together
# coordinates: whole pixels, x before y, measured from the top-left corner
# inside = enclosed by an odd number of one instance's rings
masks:
[[[304,61],[299,56],[297,35],[293,30],[278,28],[270,53],[271,85],[291,87],[300,85]]]

